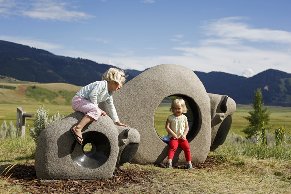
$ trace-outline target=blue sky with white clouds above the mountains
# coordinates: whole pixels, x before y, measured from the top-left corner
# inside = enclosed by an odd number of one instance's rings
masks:
[[[122,69],[291,73],[291,0],[0,0],[0,40]]]

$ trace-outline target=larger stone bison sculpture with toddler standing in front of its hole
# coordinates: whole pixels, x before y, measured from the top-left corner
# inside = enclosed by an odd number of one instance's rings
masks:
[[[188,108],[187,139],[192,162],[204,162],[209,151],[223,144],[231,125],[235,102],[226,95],[208,94],[190,69],[162,64],[146,70],[113,94],[121,122],[137,129],[141,141],[133,162],[140,164],[166,162],[169,145],[154,126],[154,117],[163,99],[183,98]],[[104,104],[101,108],[106,110]],[[183,164],[178,147],[173,164]]]

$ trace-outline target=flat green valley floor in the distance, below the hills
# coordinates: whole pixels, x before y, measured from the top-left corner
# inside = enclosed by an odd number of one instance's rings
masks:
[[[0,123],[3,123],[4,120],[8,123],[9,121],[12,121],[16,126],[17,107],[21,107],[24,111],[26,111],[26,113],[35,114],[36,110],[39,109],[40,106],[42,106],[42,104],[0,104]],[[74,112],[70,105],[45,104],[44,109],[49,110],[49,116],[53,116],[58,111],[60,112],[60,115],[64,116],[68,116]],[[167,135],[165,124],[168,116],[172,114],[169,109],[170,103],[162,102],[155,114],[155,128],[161,137]],[[235,113],[232,115],[230,132],[244,136],[242,130],[248,125],[248,122],[243,117],[247,116],[250,110],[252,110],[250,105],[237,106]],[[271,106],[268,107],[268,110],[271,112],[270,124],[274,125],[272,131],[275,131],[275,129],[282,125],[286,131],[291,132],[291,107]],[[34,118],[26,118],[26,124],[33,125],[33,120]]]

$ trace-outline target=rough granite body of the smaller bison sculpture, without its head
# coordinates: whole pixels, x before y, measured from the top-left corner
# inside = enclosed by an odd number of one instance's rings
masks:
[[[118,130],[108,116],[101,116],[97,122],[91,122],[84,127],[84,145],[86,138],[93,136],[102,138],[99,139],[96,146],[101,144],[101,146],[109,147],[109,150],[99,149],[101,154],[98,160],[92,160],[90,154],[84,154],[83,146],[76,143],[69,131],[69,128],[77,125],[83,116],[84,114],[81,112],[72,113],[49,125],[41,132],[35,153],[35,170],[38,178],[96,179],[112,177],[119,152]],[[102,152],[106,152],[107,157],[104,157]]]

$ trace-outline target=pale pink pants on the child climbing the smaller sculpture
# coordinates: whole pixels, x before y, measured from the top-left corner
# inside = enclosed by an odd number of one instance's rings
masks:
[[[75,95],[72,99],[72,108],[74,111],[80,111],[97,121],[101,116],[99,107],[93,104],[90,100],[86,100],[78,95]]]

